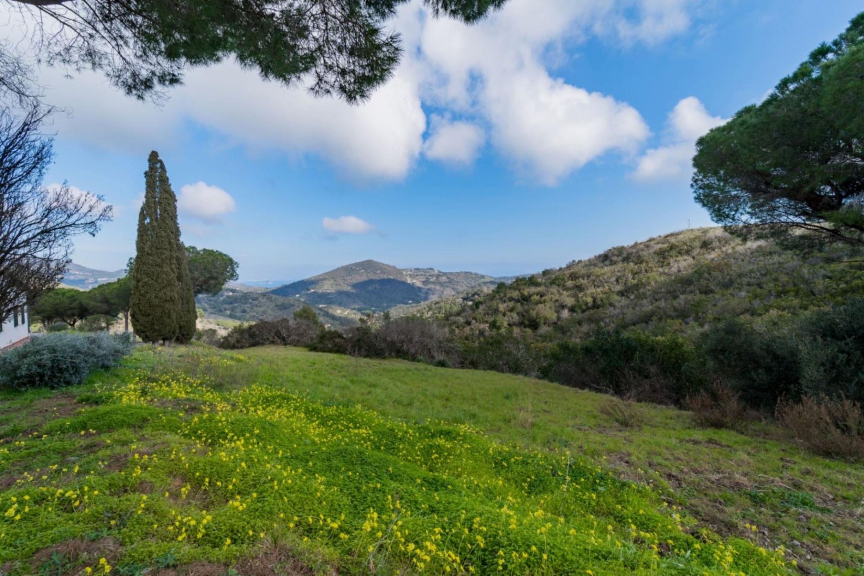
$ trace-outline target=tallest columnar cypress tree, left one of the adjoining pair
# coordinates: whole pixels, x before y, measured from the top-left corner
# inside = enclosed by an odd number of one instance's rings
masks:
[[[177,200],[165,165],[150,152],[144,173],[144,203],[138,213],[136,256],[132,269],[130,317],[145,342],[166,342],[178,334],[181,313],[177,250]]]

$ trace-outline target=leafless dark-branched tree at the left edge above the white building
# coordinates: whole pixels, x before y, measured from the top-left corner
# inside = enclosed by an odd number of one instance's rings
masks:
[[[66,271],[72,237],[94,235],[111,219],[99,196],[66,184],[42,186],[54,153],[41,133],[48,109],[0,109],[0,318],[54,288]]]

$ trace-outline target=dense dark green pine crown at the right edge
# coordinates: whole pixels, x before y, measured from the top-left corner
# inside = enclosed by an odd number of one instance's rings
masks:
[[[864,13],[764,102],[702,136],[696,200],[735,233],[864,244],[862,117]]]

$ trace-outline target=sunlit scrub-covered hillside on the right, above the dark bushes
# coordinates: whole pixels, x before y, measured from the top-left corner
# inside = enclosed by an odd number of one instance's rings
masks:
[[[842,245],[802,254],[702,228],[414,312],[446,318],[466,336],[511,329],[554,339],[581,339],[597,327],[694,332],[727,318],[776,324],[864,294],[862,256],[864,250]]]

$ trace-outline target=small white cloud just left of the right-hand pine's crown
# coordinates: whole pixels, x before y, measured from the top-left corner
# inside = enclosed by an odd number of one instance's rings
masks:
[[[696,140],[708,130],[726,123],[708,114],[698,98],[684,98],[669,113],[665,146],[645,150],[632,177],[636,180],[682,180],[693,173]]]

